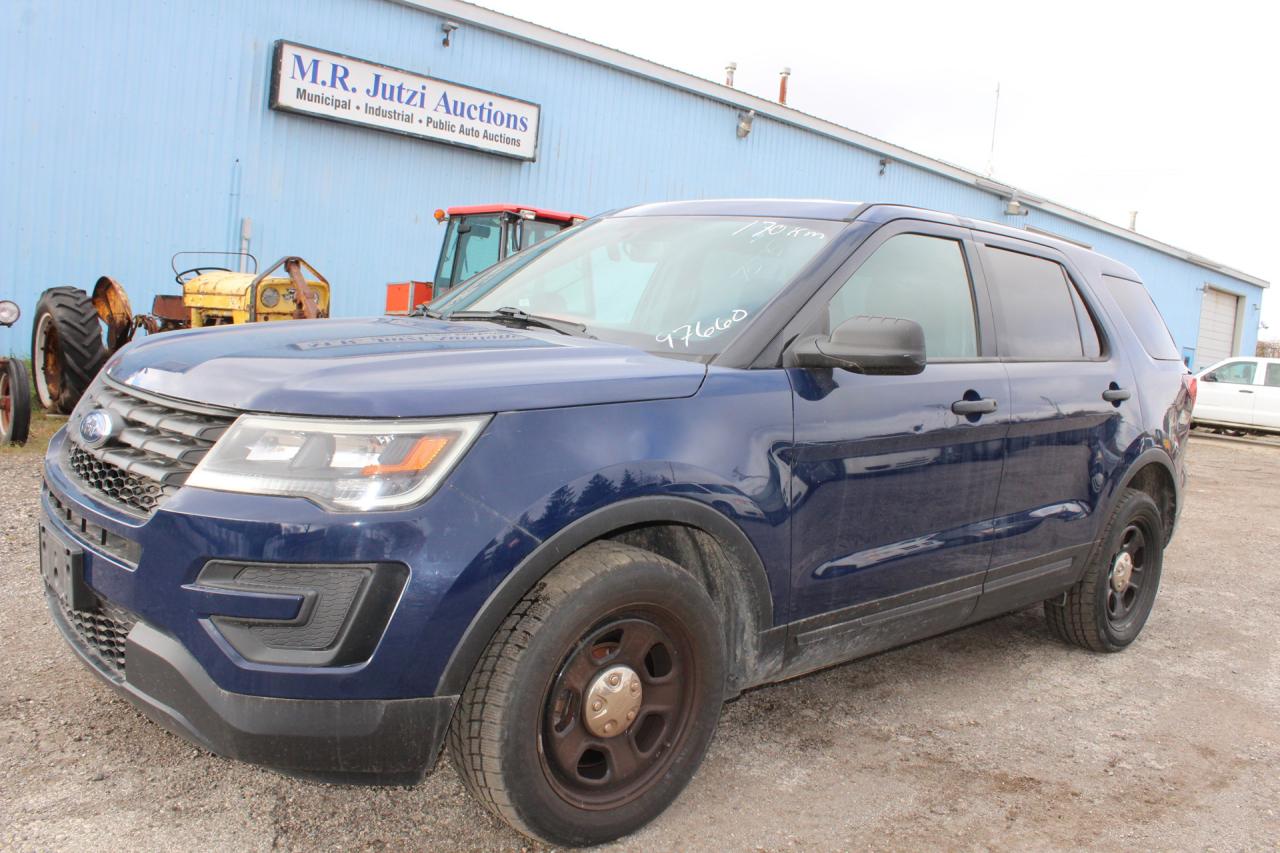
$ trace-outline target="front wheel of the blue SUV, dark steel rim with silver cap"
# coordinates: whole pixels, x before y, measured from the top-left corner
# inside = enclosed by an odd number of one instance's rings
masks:
[[[620,665],[634,675],[613,681]],[[684,790],[719,720],[724,679],[724,638],[703,585],[654,553],[596,542],[507,616],[462,693],[449,754],[471,793],[517,831],[600,844]]]

